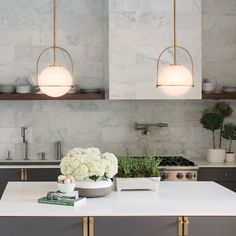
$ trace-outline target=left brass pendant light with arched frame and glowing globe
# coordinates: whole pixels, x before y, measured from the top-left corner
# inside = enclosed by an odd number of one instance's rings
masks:
[[[39,73],[41,56],[48,50],[53,50],[53,64]],[[57,50],[63,51],[69,57],[71,73],[63,66],[57,64]],[[50,97],[61,97],[73,87],[73,61],[70,53],[64,48],[56,46],[56,0],[53,0],[53,46],[44,49],[37,60],[36,79],[40,90]]]

